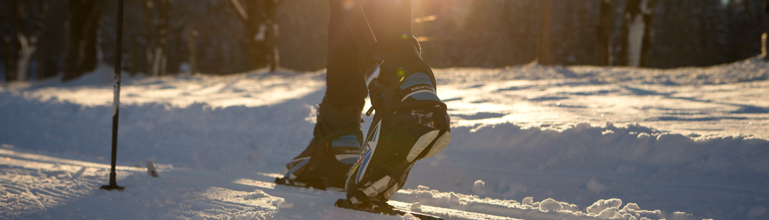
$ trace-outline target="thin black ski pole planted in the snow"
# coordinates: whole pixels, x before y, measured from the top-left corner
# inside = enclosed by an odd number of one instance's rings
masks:
[[[115,97],[112,100],[112,169],[109,172],[109,185],[102,186],[100,189],[111,191],[118,189],[123,191],[125,187],[118,186],[115,181],[115,160],[118,157],[118,113],[120,112],[120,70],[122,66],[122,43],[123,43],[123,0],[118,0],[118,33],[115,35],[115,84],[112,90]]]

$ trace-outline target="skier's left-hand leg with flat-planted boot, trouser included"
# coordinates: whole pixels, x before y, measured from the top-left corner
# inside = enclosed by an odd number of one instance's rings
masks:
[[[342,189],[361,146],[361,110],[368,95],[358,72],[358,45],[341,11],[331,9],[328,23],[326,95],[318,107],[313,139],[304,152],[286,164],[275,183]]]

